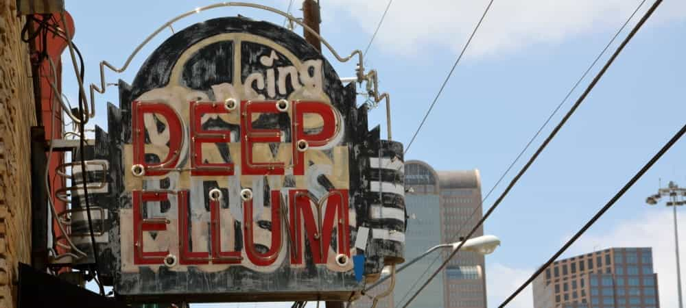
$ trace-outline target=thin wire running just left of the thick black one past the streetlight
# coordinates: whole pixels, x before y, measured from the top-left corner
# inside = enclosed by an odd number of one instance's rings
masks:
[[[460,226],[460,229],[458,229],[458,231],[457,231],[456,233],[453,233],[453,237],[451,238],[451,240],[449,240],[449,242],[453,242],[454,240],[456,240],[456,236],[458,236],[458,235],[460,235],[460,233],[462,233],[462,229],[464,229],[464,227],[466,227],[466,224],[467,224],[469,221],[471,221],[471,219],[477,214],[477,212],[480,211],[480,207],[482,207],[482,205],[483,205],[484,202],[488,199],[488,197],[490,196],[490,194],[493,193],[493,190],[495,190],[495,188],[497,188],[497,186],[500,184],[500,182],[503,181],[503,179],[506,177],[506,175],[508,175],[508,173],[510,172],[510,170],[512,170],[512,167],[514,167],[514,164],[517,164],[517,162],[519,162],[519,159],[521,158],[521,156],[529,149],[529,147],[530,147],[531,144],[534,142],[534,140],[536,140],[536,138],[539,137],[539,135],[541,134],[541,131],[543,131],[543,129],[545,129],[545,127],[548,125],[548,123],[550,122],[550,120],[552,120],[552,118],[557,114],[557,112],[558,112],[558,111],[560,110],[560,108],[564,105],[564,103],[567,101],[567,99],[569,99],[569,97],[571,96],[571,94],[572,94],[572,93],[576,90],[576,88],[578,88],[578,86],[581,84],[581,81],[583,81],[583,80],[586,78],[586,76],[591,72],[591,69],[593,69],[593,67],[595,67],[595,64],[598,63],[598,61],[600,60],[600,58],[602,57],[602,55],[604,55],[605,52],[610,48],[610,46],[615,42],[615,40],[617,40],[617,37],[619,37],[619,34],[621,34],[622,31],[624,31],[624,29],[626,28],[626,26],[628,25],[628,23],[634,18],[634,16],[636,15],[636,13],[643,7],[643,4],[645,4],[645,3],[646,3],[646,0],[641,1],[641,3],[639,3],[639,5],[636,7],[636,9],[635,9],[635,10],[631,13],[631,15],[626,19],[626,21],[624,22],[624,24],[622,24],[622,27],[619,27],[619,29],[617,30],[617,32],[615,32],[615,35],[614,35],[614,36],[611,38],[611,40],[605,45],[605,47],[602,49],[602,51],[600,51],[600,53],[598,53],[598,55],[595,57],[595,60],[593,60],[593,62],[591,63],[591,65],[589,65],[589,67],[584,71],[584,73],[581,75],[581,77],[579,77],[579,79],[578,79],[578,80],[576,81],[576,83],[571,87],[571,89],[569,89],[569,92],[567,92],[567,95],[565,95],[565,97],[562,99],[562,101],[560,101],[560,103],[557,105],[557,107],[553,110],[553,112],[552,112],[552,113],[548,116],[548,118],[545,120],[545,122],[543,123],[543,125],[541,125],[541,127],[539,128],[539,130],[536,131],[536,133],[534,133],[534,136],[532,136],[532,138],[529,140],[529,142],[526,144],[526,146],[524,146],[524,149],[522,149],[521,152],[519,152],[519,154],[517,155],[517,157],[515,157],[514,160],[512,161],[512,163],[510,163],[510,166],[508,166],[508,168],[507,168],[507,169],[505,170],[505,172],[500,176],[500,178],[498,179],[498,181],[496,181],[495,185],[493,185],[493,187],[490,188],[490,190],[488,191],[488,193],[486,194],[486,196],[482,199],[481,203],[480,203],[477,207],[474,207],[473,211],[472,211],[471,214],[469,215],[469,218],[466,219],[466,222],[464,222],[464,223]],[[413,290],[413,289],[414,289],[414,287],[417,285],[418,281],[421,281],[421,279],[423,279],[423,277],[425,276],[425,274],[427,274],[427,272],[429,272],[429,269],[431,268],[431,266],[434,266],[434,264],[436,264],[436,261],[438,261],[439,258],[440,258],[440,255],[437,255],[437,256],[434,258],[434,261],[431,261],[431,264],[430,264],[430,265],[427,267],[427,269],[421,274],[421,276],[418,277],[418,278],[416,279],[416,281],[414,282],[414,284],[412,285],[412,287],[410,287],[410,290]],[[405,296],[403,296],[403,298],[401,298],[401,300],[399,301],[399,303],[402,303],[403,300],[404,300],[408,295],[410,295],[410,293],[405,293]]]

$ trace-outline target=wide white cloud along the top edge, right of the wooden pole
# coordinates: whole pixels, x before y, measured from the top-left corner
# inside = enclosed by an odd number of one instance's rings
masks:
[[[472,56],[518,51],[536,44],[558,44],[573,36],[618,29],[640,0],[499,0],[486,16],[468,51]],[[327,5],[349,12],[372,34],[386,0],[331,0]],[[374,49],[412,55],[426,44],[462,49],[488,0],[395,0],[375,39]],[[643,5],[645,11],[652,1]],[[323,10],[327,10],[324,6]],[[331,14],[324,13],[324,16]],[[659,21],[686,16],[684,1],[664,1]],[[635,17],[635,21],[639,17]],[[366,45],[366,43],[365,43]],[[418,47],[423,46],[423,47]]]

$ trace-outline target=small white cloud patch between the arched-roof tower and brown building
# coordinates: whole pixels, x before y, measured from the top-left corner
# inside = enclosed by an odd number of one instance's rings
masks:
[[[526,279],[534,272],[533,269],[509,268],[503,264],[495,263],[486,266],[486,295],[488,306],[497,307],[503,303],[514,290],[517,290]],[[515,297],[508,307],[531,308],[534,307],[531,286]]]

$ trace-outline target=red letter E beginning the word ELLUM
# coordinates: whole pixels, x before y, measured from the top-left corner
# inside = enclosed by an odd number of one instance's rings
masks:
[[[166,218],[144,218],[141,213],[141,203],[147,201],[167,201],[167,192],[141,192],[134,190],[133,193],[133,263],[134,264],[162,264],[169,251],[143,250],[143,231],[167,230]]]

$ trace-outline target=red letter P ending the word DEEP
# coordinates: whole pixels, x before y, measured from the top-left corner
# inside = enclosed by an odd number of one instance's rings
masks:
[[[319,114],[323,121],[322,130],[318,133],[305,133],[304,114]],[[329,143],[335,136],[337,125],[333,107],[316,101],[293,101],[292,125],[293,175],[305,175],[305,152],[298,151],[298,141],[305,140],[309,146]]]

